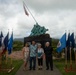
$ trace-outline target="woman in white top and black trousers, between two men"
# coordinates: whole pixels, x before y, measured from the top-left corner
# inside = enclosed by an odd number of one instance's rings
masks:
[[[37,57],[38,57],[38,69],[41,70],[43,67],[43,55],[44,50],[41,48],[41,44],[38,44]]]

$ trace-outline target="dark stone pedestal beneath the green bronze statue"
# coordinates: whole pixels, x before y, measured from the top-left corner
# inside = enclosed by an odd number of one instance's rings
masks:
[[[41,35],[36,35],[36,36],[29,36],[29,37],[24,37],[24,44],[26,42],[32,42],[35,41],[36,43],[41,43],[42,47],[44,48],[45,42],[50,42],[51,45],[51,40],[49,34],[41,34]]]

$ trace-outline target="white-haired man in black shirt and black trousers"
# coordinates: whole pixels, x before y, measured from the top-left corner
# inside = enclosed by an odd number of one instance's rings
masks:
[[[46,70],[49,70],[49,65],[51,70],[53,70],[53,59],[52,59],[52,51],[53,48],[50,46],[49,42],[46,42],[44,52],[45,52],[45,58],[46,58]]]

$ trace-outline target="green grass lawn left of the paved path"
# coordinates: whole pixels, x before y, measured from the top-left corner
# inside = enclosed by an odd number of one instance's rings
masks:
[[[23,64],[23,61],[22,60],[12,60],[13,61],[13,67],[14,67],[14,70],[12,70],[12,72],[8,73],[8,72],[2,72],[0,71],[0,75],[15,75],[17,70],[20,68],[20,66]],[[10,67],[10,63],[8,62],[7,65],[5,65],[4,63],[2,63],[2,67]]]

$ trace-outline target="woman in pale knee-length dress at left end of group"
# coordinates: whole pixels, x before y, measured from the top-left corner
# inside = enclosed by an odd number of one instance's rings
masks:
[[[29,47],[28,47],[28,43],[25,44],[25,47],[23,47],[22,49],[22,54],[23,54],[23,60],[24,60],[24,68],[23,70],[26,69],[28,60],[29,60]]]

